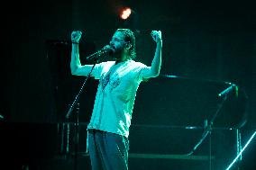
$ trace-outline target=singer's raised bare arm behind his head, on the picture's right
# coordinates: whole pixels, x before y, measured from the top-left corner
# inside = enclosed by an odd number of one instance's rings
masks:
[[[151,77],[156,77],[160,75],[160,66],[161,66],[161,31],[151,31],[152,39],[156,42],[156,50],[154,58],[151,62],[151,67],[143,69],[142,75],[143,78],[148,79]]]

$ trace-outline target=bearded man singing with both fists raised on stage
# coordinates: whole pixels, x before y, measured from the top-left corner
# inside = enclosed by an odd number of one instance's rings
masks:
[[[87,126],[87,148],[93,170],[128,169],[129,127],[137,89],[142,81],[159,76],[161,66],[161,31],[151,31],[156,49],[151,66],[136,62],[135,36],[129,29],[117,29],[107,48],[114,61],[81,66],[79,40],[81,31],[72,31],[70,69],[76,76],[99,80],[96,100]],[[92,72],[91,69],[93,68]],[[89,73],[91,74],[89,75]]]

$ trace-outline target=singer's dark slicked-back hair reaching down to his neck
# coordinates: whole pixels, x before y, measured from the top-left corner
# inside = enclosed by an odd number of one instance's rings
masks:
[[[116,31],[121,31],[124,34],[124,40],[131,44],[131,48],[129,49],[129,54],[132,59],[136,58],[135,51],[135,36],[133,31],[129,29],[117,29]]]

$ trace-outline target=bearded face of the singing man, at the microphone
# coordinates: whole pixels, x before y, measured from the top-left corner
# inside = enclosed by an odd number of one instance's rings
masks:
[[[123,52],[123,49],[125,47],[125,40],[124,40],[124,35],[123,32],[121,31],[116,31],[114,32],[114,35],[112,39],[110,40],[110,46],[114,51],[114,54],[120,54]]]

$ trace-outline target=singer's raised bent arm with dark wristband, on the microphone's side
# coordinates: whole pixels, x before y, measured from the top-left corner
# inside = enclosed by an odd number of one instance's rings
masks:
[[[79,58],[79,40],[81,39],[81,31],[72,31],[71,41],[72,41],[72,50],[71,50],[71,61],[70,69],[71,74],[76,76],[87,76],[91,71],[93,65],[84,65],[81,66]]]

